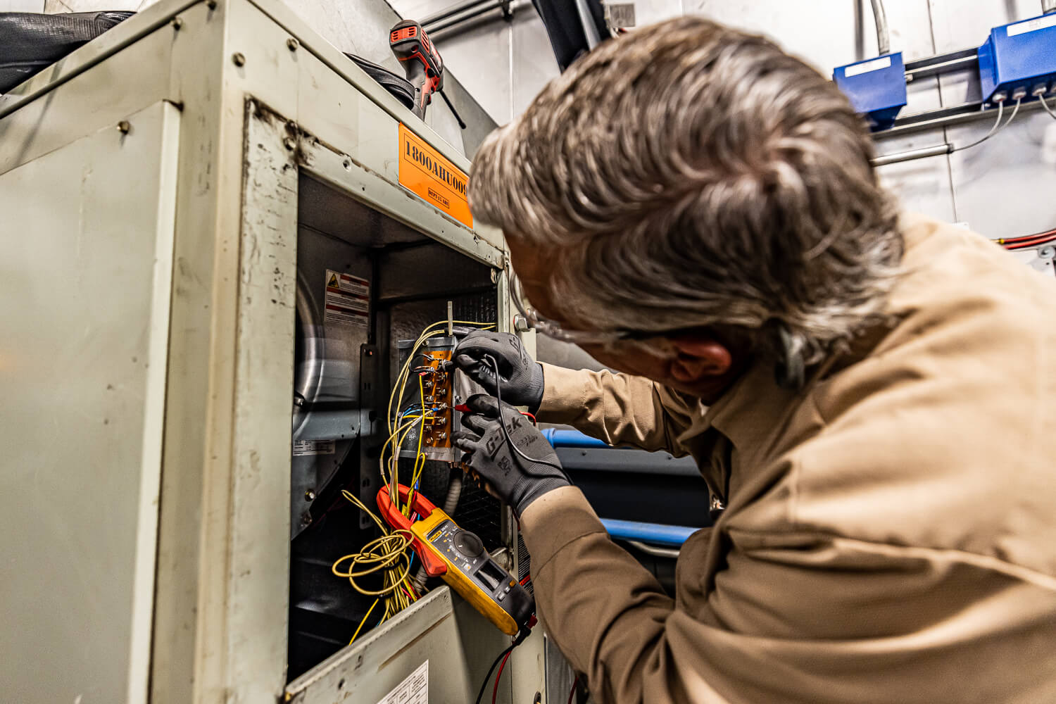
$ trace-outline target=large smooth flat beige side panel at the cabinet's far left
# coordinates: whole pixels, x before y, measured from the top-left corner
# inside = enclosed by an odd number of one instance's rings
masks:
[[[0,176],[4,701],[147,701],[178,131],[157,102]]]

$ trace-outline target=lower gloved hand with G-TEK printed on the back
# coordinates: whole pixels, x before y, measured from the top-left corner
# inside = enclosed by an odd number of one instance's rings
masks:
[[[502,406],[507,440],[494,397],[477,394],[466,405],[470,408],[463,415],[466,430],[451,436],[455,446],[467,453],[463,463],[484,478],[518,518],[543,494],[571,483],[553,448],[516,408],[505,402]],[[513,450],[510,441],[527,457]]]

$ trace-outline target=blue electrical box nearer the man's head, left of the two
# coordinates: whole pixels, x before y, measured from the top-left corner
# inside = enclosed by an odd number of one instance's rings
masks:
[[[837,66],[832,72],[836,87],[850,98],[854,110],[869,120],[874,132],[894,123],[906,106],[906,66],[902,52],[876,59]]]

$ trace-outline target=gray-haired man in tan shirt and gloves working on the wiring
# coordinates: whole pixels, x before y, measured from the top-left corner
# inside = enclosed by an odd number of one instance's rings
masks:
[[[1056,701],[1056,285],[899,213],[872,153],[812,69],[682,18],[591,52],[476,155],[528,318],[619,373],[489,332],[457,364],[541,421],[692,455],[719,516],[672,598],[521,414],[507,437],[470,403],[458,445],[601,703]]]

